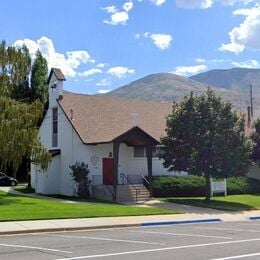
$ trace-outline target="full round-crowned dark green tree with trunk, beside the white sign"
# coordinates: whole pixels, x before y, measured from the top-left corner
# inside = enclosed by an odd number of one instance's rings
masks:
[[[212,90],[201,96],[191,93],[174,103],[167,117],[166,136],[161,139],[163,165],[169,171],[204,176],[209,200],[211,177],[241,174],[250,164],[244,127],[244,117]]]

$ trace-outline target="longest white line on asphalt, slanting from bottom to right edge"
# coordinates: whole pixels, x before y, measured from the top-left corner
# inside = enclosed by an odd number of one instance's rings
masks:
[[[185,248],[196,248],[196,247],[204,247],[204,246],[247,243],[247,242],[254,242],[254,241],[260,241],[260,238],[245,239],[245,240],[233,240],[233,241],[207,243],[207,244],[194,244],[194,245],[186,245],[186,246],[163,247],[163,248],[155,248],[155,249],[144,249],[144,250],[126,251],[126,252],[110,253],[110,254],[85,255],[85,256],[77,256],[77,257],[70,257],[70,258],[60,258],[60,259],[56,259],[56,260],[77,260],[77,259],[88,259],[88,258],[98,258],[98,257],[107,257],[107,256],[130,255],[130,254],[160,252],[160,251],[185,249]]]

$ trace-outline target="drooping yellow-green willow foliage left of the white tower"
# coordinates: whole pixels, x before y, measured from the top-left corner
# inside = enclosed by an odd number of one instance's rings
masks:
[[[0,96],[1,168],[12,164],[16,171],[24,156],[47,168],[51,156],[37,138],[37,122],[42,110],[39,101],[26,104]]]

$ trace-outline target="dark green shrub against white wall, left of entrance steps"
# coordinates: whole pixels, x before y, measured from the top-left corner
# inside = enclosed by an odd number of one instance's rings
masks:
[[[84,162],[76,162],[74,165],[70,165],[69,167],[72,170],[70,174],[72,175],[74,181],[77,183],[78,186],[77,195],[80,198],[89,198],[91,181],[88,178],[88,165]]]

